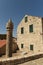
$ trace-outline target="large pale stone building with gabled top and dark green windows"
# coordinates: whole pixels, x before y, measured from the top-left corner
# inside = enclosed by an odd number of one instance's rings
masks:
[[[25,15],[17,27],[17,44],[21,51],[43,52],[43,18]]]

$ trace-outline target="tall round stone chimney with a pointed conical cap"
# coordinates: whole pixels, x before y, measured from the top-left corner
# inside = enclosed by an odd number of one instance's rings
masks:
[[[13,32],[13,23],[9,19],[7,25],[7,37],[6,37],[6,57],[12,57],[12,32]]]

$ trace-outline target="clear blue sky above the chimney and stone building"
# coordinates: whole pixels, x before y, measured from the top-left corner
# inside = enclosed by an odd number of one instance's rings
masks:
[[[0,0],[0,34],[6,34],[9,18],[14,23],[13,36],[24,15],[43,17],[43,0]]]

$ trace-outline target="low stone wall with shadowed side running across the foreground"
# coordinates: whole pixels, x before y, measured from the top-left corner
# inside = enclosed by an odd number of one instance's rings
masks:
[[[34,55],[34,56],[30,56],[30,57],[24,57],[24,58],[18,58],[18,59],[14,59],[14,58],[7,59],[6,58],[3,60],[0,60],[0,65],[19,65],[19,64],[34,61],[34,60],[37,60],[40,58],[43,58],[43,54]]]

